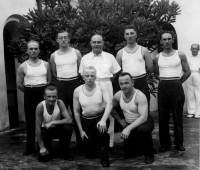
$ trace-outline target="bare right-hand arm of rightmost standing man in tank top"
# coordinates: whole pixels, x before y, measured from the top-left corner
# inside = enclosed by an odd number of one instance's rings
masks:
[[[183,83],[184,81],[186,81],[188,79],[188,77],[191,74],[191,71],[190,71],[190,66],[188,64],[186,55],[183,52],[180,52],[180,51],[179,51],[178,54],[179,54],[179,57],[181,59],[181,64],[182,64],[182,68],[183,68],[183,72],[184,72],[182,77],[181,77],[181,82]]]

